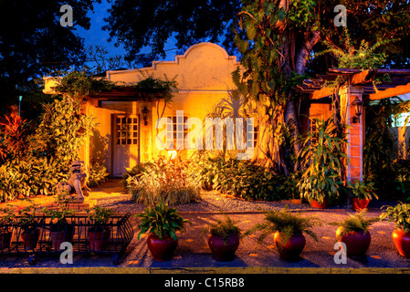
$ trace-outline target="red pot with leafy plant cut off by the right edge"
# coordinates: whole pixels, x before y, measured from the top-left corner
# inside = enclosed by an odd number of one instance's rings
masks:
[[[383,209],[380,219],[388,217],[388,222],[395,224],[392,236],[399,254],[410,257],[410,203],[400,202],[395,206],[383,206]]]

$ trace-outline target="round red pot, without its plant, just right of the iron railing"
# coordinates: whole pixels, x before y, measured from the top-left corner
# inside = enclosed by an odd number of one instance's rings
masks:
[[[160,239],[160,237],[151,234],[147,238],[147,245],[155,261],[165,262],[173,258],[178,240],[174,240],[169,236]]]

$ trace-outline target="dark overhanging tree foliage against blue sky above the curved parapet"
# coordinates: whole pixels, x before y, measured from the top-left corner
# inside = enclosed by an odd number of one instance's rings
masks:
[[[201,41],[235,49],[229,28],[239,11],[240,0],[112,0],[106,18],[111,37],[128,50],[129,59],[151,61],[165,57],[164,45],[171,37],[180,52]],[[140,56],[141,49],[152,49]]]

